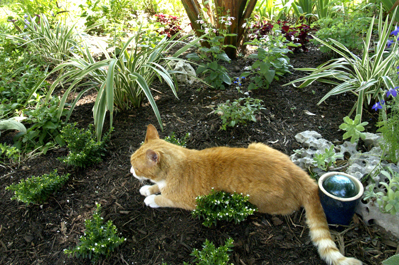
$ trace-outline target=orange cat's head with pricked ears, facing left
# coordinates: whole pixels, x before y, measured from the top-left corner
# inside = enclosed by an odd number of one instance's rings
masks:
[[[130,172],[139,180],[160,181],[162,176],[162,145],[165,141],[159,138],[157,129],[150,124],[147,127],[146,139],[142,146],[130,157]]]

